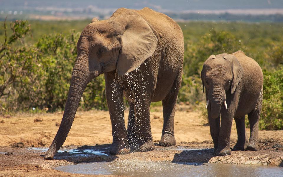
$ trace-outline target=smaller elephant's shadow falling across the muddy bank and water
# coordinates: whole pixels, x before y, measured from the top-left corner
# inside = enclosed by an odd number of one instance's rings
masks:
[[[202,165],[208,163],[214,157],[213,148],[199,150],[183,150],[176,153],[172,163],[187,164],[187,165]]]

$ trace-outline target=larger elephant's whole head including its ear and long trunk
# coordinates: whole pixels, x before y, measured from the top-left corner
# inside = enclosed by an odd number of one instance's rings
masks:
[[[119,15],[103,21],[94,18],[83,29],[62,122],[45,159],[53,159],[65,142],[87,84],[102,73],[117,70],[124,75],[133,71],[154,53],[156,46],[153,30],[136,15]]]

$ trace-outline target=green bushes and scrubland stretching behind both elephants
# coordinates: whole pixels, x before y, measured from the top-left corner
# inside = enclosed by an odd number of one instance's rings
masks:
[[[64,109],[76,59],[76,42],[85,21],[15,21],[0,25],[0,114]],[[211,54],[243,50],[264,72],[260,128],[283,130],[283,24],[242,22],[179,23],[185,42],[179,102],[205,104],[200,71]],[[8,25],[9,26],[9,25]],[[7,29],[7,30],[5,30]],[[7,32],[7,35],[5,35]],[[80,109],[107,109],[104,78],[88,84]],[[152,106],[159,103],[152,104]],[[202,112],[206,110],[202,109]],[[203,113],[205,115],[205,113]]]

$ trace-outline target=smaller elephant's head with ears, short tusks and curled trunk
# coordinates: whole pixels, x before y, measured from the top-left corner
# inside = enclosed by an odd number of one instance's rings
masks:
[[[222,104],[226,104],[226,92],[236,90],[243,76],[243,68],[234,55],[211,55],[203,64],[201,80],[206,91],[206,108],[210,109],[211,117],[217,118]],[[208,105],[210,104],[210,107]]]

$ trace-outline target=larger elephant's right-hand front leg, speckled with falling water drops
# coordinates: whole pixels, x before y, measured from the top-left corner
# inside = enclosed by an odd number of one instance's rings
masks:
[[[139,140],[139,151],[154,150],[150,127],[150,101],[139,100],[134,105],[136,117],[136,132]]]

